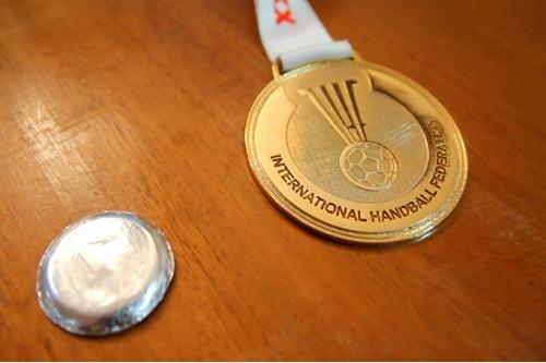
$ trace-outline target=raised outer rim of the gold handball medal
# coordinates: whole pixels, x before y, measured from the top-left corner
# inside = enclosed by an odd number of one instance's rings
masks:
[[[426,215],[418,221],[410,225],[408,227],[404,227],[402,229],[395,229],[390,231],[380,231],[380,232],[365,232],[365,231],[355,231],[348,230],[343,227],[335,226],[334,223],[329,223],[322,219],[319,219],[316,216],[300,209],[294,202],[292,202],[287,196],[285,196],[275,183],[271,180],[265,168],[259,160],[257,145],[254,142],[257,123],[259,120],[259,112],[262,106],[268,100],[269,96],[271,96],[274,92],[272,88],[278,87],[280,83],[292,77],[296,77],[301,73],[312,72],[316,69],[320,69],[323,66],[328,66],[328,63],[333,62],[356,62],[359,66],[363,66],[366,71],[377,71],[380,73],[385,73],[387,75],[393,76],[397,81],[403,82],[412,89],[414,89],[417,94],[422,95],[435,107],[440,113],[446,116],[443,124],[446,121],[449,122],[450,126],[454,130],[456,146],[459,147],[459,156],[460,160],[456,160],[456,165],[460,166],[460,169],[456,172],[454,184],[449,194],[446,196],[446,199],[438,207],[437,210]],[[268,196],[269,199],[273,202],[273,204],[281,209],[285,215],[289,218],[298,221],[306,228],[319,232],[322,235],[332,238],[336,241],[349,244],[392,244],[392,243],[402,243],[402,242],[417,242],[431,235],[444,221],[446,219],[453,213],[453,210],[459,205],[464,189],[467,182],[468,174],[468,160],[466,147],[464,144],[464,140],[461,135],[461,132],[448,112],[448,110],[440,104],[440,101],[431,95],[426,88],[417,84],[415,81],[408,78],[407,76],[393,71],[383,65],[379,65],[368,61],[360,60],[336,60],[336,61],[323,61],[317,63],[310,63],[298,69],[295,69],[286,74],[274,77],[258,95],[256,98],[248,118],[247,124],[245,128],[245,144],[247,150],[247,157],[249,167],[252,173],[253,179],[257,181],[258,185],[262,190],[262,192]],[[366,204],[366,203],[363,203]]]

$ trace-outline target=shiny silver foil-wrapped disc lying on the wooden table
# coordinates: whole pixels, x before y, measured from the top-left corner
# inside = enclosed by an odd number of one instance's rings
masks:
[[[41,310],[61,328],[108,335],[144,319],[175,271],[159,229],[127,211],[104,211],[69,226],[38,267]]]

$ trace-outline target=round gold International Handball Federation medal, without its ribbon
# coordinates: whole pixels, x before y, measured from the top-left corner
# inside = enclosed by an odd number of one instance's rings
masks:
[[[368,62],[314,63],[270,83],[250,111],[246,145],[282,210],[346,242],[427,237],[466,182],[466,150],[448,111]]]

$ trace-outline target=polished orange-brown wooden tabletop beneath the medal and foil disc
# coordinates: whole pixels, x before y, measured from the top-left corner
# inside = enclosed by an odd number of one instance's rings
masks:
[[[312,4],[456,120],[449,222],[354,247],[269,202],[244,147],[272,80],[250,0],[1,0],[0,359],[546,359],[546,2]],[[147,320],[90,339],[46,318],[36,269],[103,209],[159,226],[177,271]]]

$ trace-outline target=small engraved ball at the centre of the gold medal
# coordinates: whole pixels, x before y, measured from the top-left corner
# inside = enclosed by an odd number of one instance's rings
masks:
[[[394,155],[373,142],[347,145],[340,156],[340,166],[349,181],[369,191],[391,187],[397,173]]]

